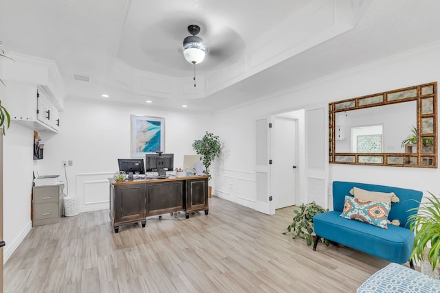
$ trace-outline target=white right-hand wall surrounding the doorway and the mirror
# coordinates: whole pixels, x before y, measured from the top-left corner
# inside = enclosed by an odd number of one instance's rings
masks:
[[[307,105],[360,97],[407,86],[439,81],[440,43],[408,51],[399,56],[371,62],[336,75],[304,84],[291,91],[274,94],[255,104],[234,108],[214,116],[214,130],[225,141],[223,169],[220,176],[235,174],[248,176],[255,169],[255,127],[254,119],[272,113],[297,110]],[[405,124],[405,128],[407,125]],[[439,169],[415,167],[378,167],[362,165],[338,165],[329,167],[329,179],[353,180],[440,192]],[[254,176],[248,176],[254,180]],[[217,179],[216,179],[217,180]],[[215,189],[222,190],[219,196],[253,207],[251,195],[245,189],[235,189],[217,180]],[[221,185],[223,183],[223,185]],[[228,193],[227,191],[230,190]],[[243,191],[239,194],[237,190]],[[331,191],[330,191],[331,193]],[[329,204],[331,206],[331,204]]]

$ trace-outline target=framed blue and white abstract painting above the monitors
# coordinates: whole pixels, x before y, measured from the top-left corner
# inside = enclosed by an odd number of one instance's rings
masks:
[[[131,115],[131,156],[164,152],[164,118]]]

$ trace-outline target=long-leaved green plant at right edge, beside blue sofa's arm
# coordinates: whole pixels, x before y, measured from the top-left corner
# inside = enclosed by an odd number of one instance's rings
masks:
[[[410,209],[418,211],[408,218],[410,230],[415,233],[410,259],[423,261],[427,256],[434,270],[440,260],[440,198],[430,195],[428,202],[422,202],[418,209]]]

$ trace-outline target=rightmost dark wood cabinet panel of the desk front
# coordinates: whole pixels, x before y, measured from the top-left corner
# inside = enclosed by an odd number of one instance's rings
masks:
[[[186,211],[208,209],[208,179],[186,181]]]

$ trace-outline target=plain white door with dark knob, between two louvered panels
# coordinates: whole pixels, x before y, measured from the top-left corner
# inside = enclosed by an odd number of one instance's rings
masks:
[[[281,209],[296,204],[296,119],[283,115],[270,119],[270,194],[275,209]]]

